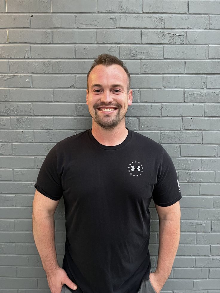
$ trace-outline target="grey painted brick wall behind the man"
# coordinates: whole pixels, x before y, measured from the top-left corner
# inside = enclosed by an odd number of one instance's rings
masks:
[[[181,240],[162,292],[220,292],[218,14],[218,0],[0,0],[0,293],[50,292],[31,231],[34,182],[56,142],[91,127],[86,74],[100,53],[132,73],[127,126],[161,143],[178,173]],[[64,217],[61,200],[60,264]]]

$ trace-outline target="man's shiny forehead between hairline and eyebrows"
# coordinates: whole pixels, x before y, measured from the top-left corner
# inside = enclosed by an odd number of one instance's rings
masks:
[[[117,84],[121,83],[127,86],[128,76],[124,69],[117,64],[110,66],[97,65],[90,72],[88,83],[91,84]]]

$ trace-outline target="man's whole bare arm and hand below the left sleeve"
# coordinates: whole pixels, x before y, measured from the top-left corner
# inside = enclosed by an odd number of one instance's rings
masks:
[[[58,203],[59,200],[51,200],[36,190],[33,199],[33,236],[52,293],[60,293],[63,284],[76,289],[57,262],[54,213]]]

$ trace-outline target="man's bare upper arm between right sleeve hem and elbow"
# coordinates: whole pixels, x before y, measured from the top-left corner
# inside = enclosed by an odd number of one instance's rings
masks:
[[[181,211],[179,200],[169,206],[159,206],[155,204],[155,208],[160,220],[180,220]]]

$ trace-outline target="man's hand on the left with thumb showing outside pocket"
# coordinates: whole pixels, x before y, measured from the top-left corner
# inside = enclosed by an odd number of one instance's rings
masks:
[[[46,276],[51,293],[60,293],[64,284],[73,290],[77,289],[77,285],[68,278],[67,273],[62,268],[56,269],[53,273],[46,273]]]

